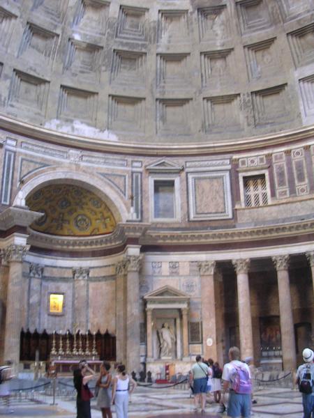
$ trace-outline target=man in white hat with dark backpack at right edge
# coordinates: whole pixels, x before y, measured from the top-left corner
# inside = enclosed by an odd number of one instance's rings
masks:
[[[304,418],[310,418],[312,413],[314,417],[314,353],[311,348],[304,348],[302,355],[304,364],[297,369],[295,382],[302,394]]]

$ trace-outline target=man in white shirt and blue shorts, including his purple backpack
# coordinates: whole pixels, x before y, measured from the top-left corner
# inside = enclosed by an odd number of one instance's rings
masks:
[[[223,366],[223,392],[229,389],[227,415],[231,418],[251,417],[251,373],[248,365],[241,362],[240,350],[231,347],[230,362]]]

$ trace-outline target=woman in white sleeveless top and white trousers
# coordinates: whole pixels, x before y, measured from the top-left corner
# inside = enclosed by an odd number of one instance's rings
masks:
[[[135,389],[136,382],[126,374],[126,366],[119,364],[118,374],[113,380],[112,405],[116,405],[117,418],[128,418],[128,394]]]

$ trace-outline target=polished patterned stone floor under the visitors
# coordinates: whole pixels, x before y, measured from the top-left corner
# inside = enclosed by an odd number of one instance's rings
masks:
[[[299,392],[291,389],[262,389],[255,396],[257,403],[253,405],[253,418],[301,418],[302,405]],[[45,403],[44,403],[45,402]],[[57,405],[50,405],[50,396],[42,397],[40,401],[15,400],[13,401],[13,413],[10,417],[43,417],[43,418],[74,418],[75,399],[57,398]],[[92,418],[101,418],[101,413],[96,409],[96,401],[92,401]],[[114,407],[112,408],[114,412]],[[130,398],[129,417],[141,418],[171,418],[171,417],[227,417],[218,413],[218,405],[207,405],[206,411],[201,415],[200,411],[193,412],[193,398],[184,389],[155,389],[137,388]],[[0,416],[7,411],[0,404]],[[113,417],[115,417],[113,413]]]

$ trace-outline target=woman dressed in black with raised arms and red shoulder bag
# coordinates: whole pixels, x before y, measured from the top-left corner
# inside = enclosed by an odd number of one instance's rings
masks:
[[[91,418],[91,398],[94,395],[89,389],[88,382],[95,378],[96,373],[86,362],[80,362],[79,367],[80,369],[73,371],[73,383],[77,391],[77,418]]]

